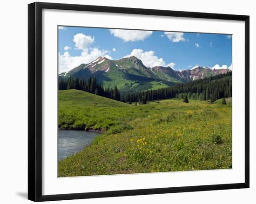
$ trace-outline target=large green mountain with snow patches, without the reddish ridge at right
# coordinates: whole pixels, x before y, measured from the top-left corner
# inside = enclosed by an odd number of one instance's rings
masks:
[[[182,82],[174,78],[170,81],[168,78],[159,77],[134,56],[119,60],[99,57],[89,64],[81,64],[59,76],[64,79],[70,76],[79,79],[95,76],[104,87],[117,86],[122,91],[157,89]]]

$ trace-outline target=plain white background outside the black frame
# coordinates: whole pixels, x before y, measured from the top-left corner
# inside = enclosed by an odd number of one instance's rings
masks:
[[[44,0],[41,0],[44,1]],[[27,200],[27,4],[31,0],[10,0],[0,6],[0,203],[31,203]],[[97,198],[48,203],[256,203],[256,13],[252,0],[47,0],[114,7],[140,7],[177,11],[250,15],[250,189],[173,193],[148,196]]]

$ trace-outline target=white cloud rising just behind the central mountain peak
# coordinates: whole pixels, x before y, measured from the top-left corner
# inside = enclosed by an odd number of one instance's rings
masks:
[[[124,58],[130,57],[130,56],[135,56],[136,58],[141,59],[142,63],[145,66],[149,66],[149,67],[170,66],[174,68],[175,66],[174,62],[166,63],[162,58],[158,58],[157,56],[155,56],[154,51],[144,52],[141,49],[134,49],[130,54],[128,54],[127,56],[124,56]]]

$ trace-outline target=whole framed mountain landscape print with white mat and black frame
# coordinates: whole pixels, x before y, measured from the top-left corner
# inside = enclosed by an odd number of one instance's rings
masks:
[[[249,16],[28,5],[28,199],[249,188]]]

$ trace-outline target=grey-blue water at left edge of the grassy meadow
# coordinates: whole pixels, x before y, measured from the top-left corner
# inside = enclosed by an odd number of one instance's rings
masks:
[[[87,145],[91,145],[93,139],[101,133],[79,130],[59,130],[58,137],[58,161],[66,158]]]

